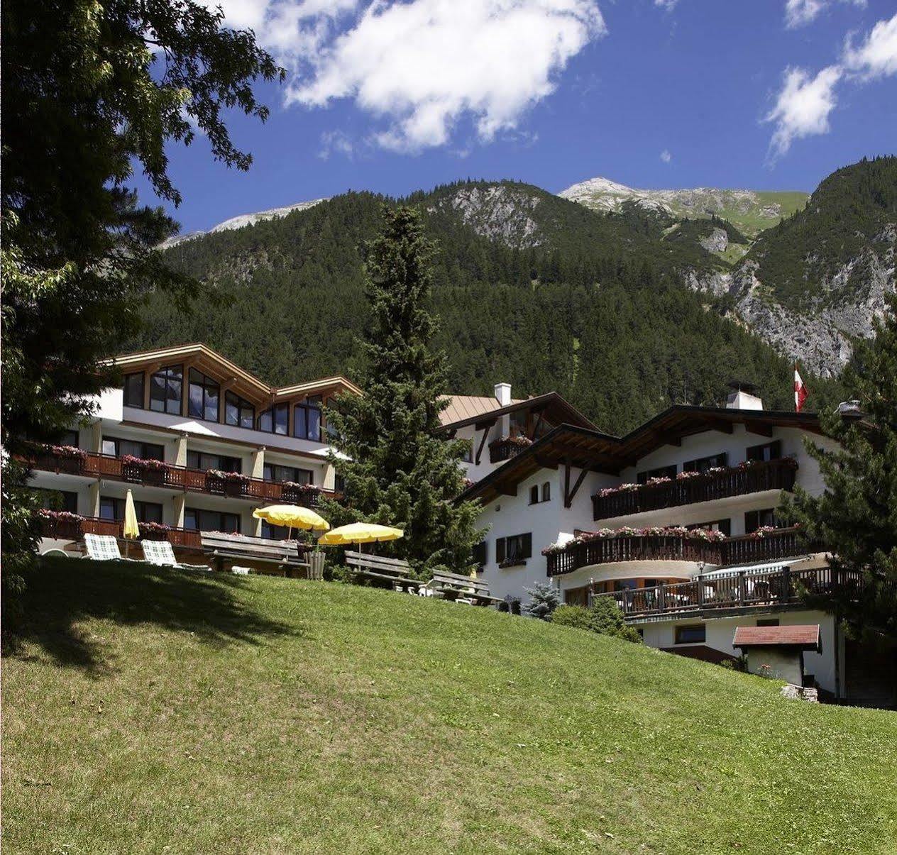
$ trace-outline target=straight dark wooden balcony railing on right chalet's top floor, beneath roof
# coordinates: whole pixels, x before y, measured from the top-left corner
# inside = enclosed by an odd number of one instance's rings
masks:
[[[592,516],[593,519],[611,519],[763,490],[792,490],[795,475],[797,461],[779,458],[758,461],[747,467],[727,467],[722,472],[674,478],[664,484],[642,484],[632,490],[592,496]]]

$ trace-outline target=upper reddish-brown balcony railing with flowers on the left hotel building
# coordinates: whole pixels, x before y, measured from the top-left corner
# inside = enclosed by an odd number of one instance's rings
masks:
[[[80,458],[40,453],[30,458],[28,462],[31,467],[45,472],[106,478],[109,481],[124,481],[126,484],[166,487],[186,493],[208,493],[253,502],[283,502],[314,507],[321,495],[340,497],[340,493],[333,490],[322,489],[312,492],[300,486],[282,484],[278,481],[263,481],[261,478],[227,479],[212,475],[204,469],[172,465],[157,469],[128,463],[108,454],[92,452],[86,452]]]

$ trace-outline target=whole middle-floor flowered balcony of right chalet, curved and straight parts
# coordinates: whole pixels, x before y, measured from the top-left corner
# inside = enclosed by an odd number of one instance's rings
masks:
[[[715,533],[714,533],[715,534]],[[685,561],[713,567],[776,561],[818,551],[797,535],[797,528],[762,529],[750,535],[703,540],[687,534],[626,534],[570,541],[546,553],[548,576],[582,567],[625,561]]]

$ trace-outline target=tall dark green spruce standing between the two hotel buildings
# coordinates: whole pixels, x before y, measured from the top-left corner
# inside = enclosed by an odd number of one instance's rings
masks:
[[[433,247],[413,208],[383,209],[384,229],[368,244],[366,292],[370,336],[364,394],[342,396],[328,410],[344,500],[325,513],[404,528],[392,548],[420,572],[462,569],[478,538],[475,502],[455,502],[464,489],[465,442],[448,440],[440,413],[448,401],[445,355],[431,349],[436,323],[425,308]]]

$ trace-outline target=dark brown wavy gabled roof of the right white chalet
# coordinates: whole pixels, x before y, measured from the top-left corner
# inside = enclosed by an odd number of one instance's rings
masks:
[[[488,502],[501,493],[513,494],[517,484],[539,469],[556,468],[568,462],[577,469],[619,475],[623,468],[635,466],[640,458],[662,445],[678,445],[683,437],[693,433],[731,433],[737,423],[745,424],[749,432],[760,437],[771,436],[773,427],[797,427],[804,431],[822,432],[819,417],[814,413],[731,410],[684,404],[668,407],[624,437],[578,425],[560,424],[468,487],[458,499],[483,498]]]

